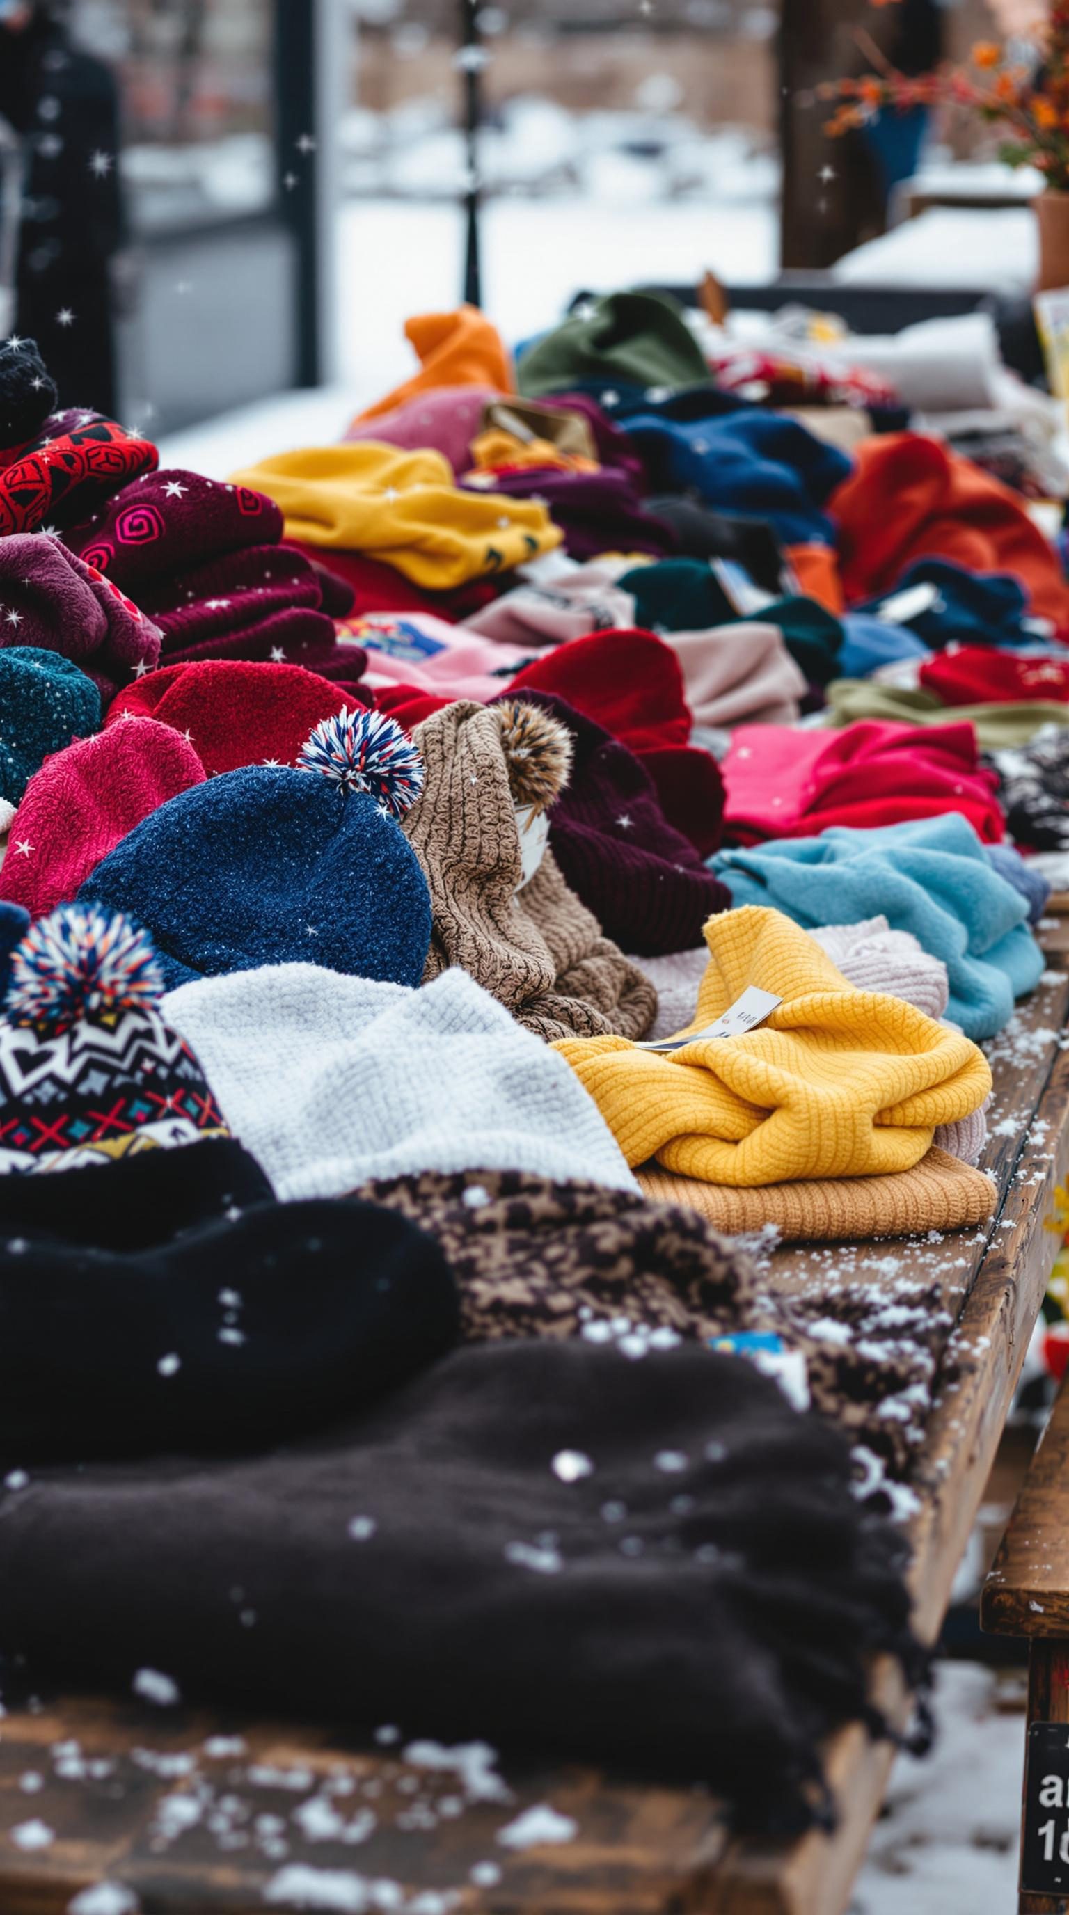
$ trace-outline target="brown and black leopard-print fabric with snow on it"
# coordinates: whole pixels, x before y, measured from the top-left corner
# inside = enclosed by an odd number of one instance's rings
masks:
[[[517,1170],[427,1170],[354,1195],[439,1241],[467,1340],[584,1337],[642,1356],[674,1339],[772,1331],[803,1352],[814,1409],[877,1459],[877,1476],[908,1482],[952,1329],[935,1289],[774,1296],[695,1210]],[[868,1459],[862,1475],[872,1476]],[[879,1480],[872,1501],[885,1507]]]

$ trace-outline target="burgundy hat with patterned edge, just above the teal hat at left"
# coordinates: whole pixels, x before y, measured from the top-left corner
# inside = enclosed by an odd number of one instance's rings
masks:
[[[0,643],[73,659],[109,691],[159,659],[159,630],[57,538],[0,538]]]

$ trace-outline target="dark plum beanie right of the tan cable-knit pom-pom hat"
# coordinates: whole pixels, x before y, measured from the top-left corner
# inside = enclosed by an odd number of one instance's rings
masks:
[[[573,741],[571,776],[550,814],[565,883],[623,950],[695,944],[705,919],[730,908],[730,892],[672,829],[634,753],[548,691],[525,693],[525,703],[557,718]]]

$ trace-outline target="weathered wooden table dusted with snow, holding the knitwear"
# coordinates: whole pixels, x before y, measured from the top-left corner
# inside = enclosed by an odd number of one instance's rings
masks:
[[[929,1639],[1059,1243],[1044,1226],[1054,1187],[1069,1174],[1069,923],[1046,921],[1042,936],[1044,980],[990,1046],[987,1168],[1000,1193],[992,1224],[931,1245],[782,1250],[768,1272],[772,1287],[793,1293],[858,1277],[879,1287],[900,1260],[910,1277],[939,1283],[956,1316],[956,1381],[927,1425],[910,1524],[916,1616]],[[904,1722],[910,1699],[889,1664],[874,1668],[874,1695]],[[699,1789],[510,1768],[512,1798],[477,1800],[456,1773],[406,1762],[391,1745],[368,1750],[343,1731],[148,1710],[132,1699],[63,1699],[0,1722],[0,1909],[59,1915],[86,1884],[109,1881],[128,1886],[146,1915],[251,1915],[272,1905],[343,1915],[841,1915],[893,1750],[847,1727],[826,1760],[839,1800],[835,1835],[736,1842]],[[542,1804],[573,1819],[573,1838],[502,1846],[502,1827]],[[364,1810],[377,1823],[356,1840]],[[42,1846],[33,1846],[34,1835]],[[293,1869],[316,1873],[282,1873]],[[272,1900],[282,1890],[291,1900]],[[301,1904],[301,1892],[333,1900]],[[88,1915],[126,1907],[90,1902]]]

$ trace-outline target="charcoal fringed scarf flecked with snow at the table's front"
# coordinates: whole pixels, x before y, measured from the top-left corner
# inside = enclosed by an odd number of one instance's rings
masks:
[[[868,1655],[912,1658],[847,1444],[695,1346],[469,1346],[330,1436],[46,1469],[0,1515],[0,1643],[34,1683],[149,1666],[184,1699],[701,1779],[751,1825],[820,1814]]]

